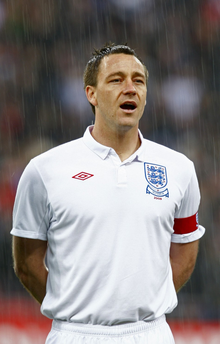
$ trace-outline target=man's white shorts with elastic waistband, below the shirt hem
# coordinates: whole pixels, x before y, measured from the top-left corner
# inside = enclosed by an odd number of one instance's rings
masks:
[[[145,322],[118,325],[85,325],[53,320],[45,344],[174,344],[165,315]]]

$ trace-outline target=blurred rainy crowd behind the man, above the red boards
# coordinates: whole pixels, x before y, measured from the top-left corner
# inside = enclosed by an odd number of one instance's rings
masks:
[[[206,233],[170,317],[219,319],[219,0],[0,0],[0,299],[29,297],[11,258],[20,176],[94,123],[82,75],[106,41],[127,42],[148,68],[143,136],[184,153],[198,176]]]

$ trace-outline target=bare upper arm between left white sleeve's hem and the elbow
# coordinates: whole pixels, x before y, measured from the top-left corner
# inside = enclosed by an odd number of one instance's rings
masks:
[[[12,243],[16,275],[45,265],[47,241],[13,236]]]

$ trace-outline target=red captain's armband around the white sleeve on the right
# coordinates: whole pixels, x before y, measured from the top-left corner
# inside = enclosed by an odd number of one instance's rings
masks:
[[[199,228],[198,212],[189,217],[174,218],[173,230],[174,234],[192,233]]]

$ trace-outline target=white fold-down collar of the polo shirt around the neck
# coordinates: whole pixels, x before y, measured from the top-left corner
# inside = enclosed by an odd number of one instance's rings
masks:
[[[88,148],[90,148],[94,153],[99,155],[100,158],[104,160],[107,157],[108,153],[112,150],[112,148],[103,146],[101,143],[95,141],[95,139],[91,135],[93,127],[94,125],[89,126],[86,129],[82,140]],[[140,140],[141,140],[141,146],[138,148],[138,150],[134,154],[132,154],[127,159],[128,161],[132,161],[134,159],[137,159],[138,161],[141,161],[141,162],[144,161],[144,151],[146,149],[146,143],[139,129],[138,129],[138,136],[140,137]]]

